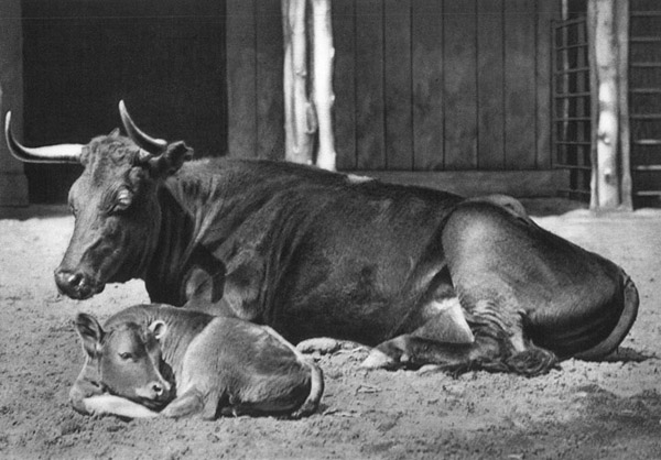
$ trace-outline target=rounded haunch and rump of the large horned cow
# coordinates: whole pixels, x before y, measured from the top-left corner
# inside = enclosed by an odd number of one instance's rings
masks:
[[[514,350],[532,341],[561,359],[607,354],[636,318],[636,287],[619,266],[496,206],[459,207],[443,243],[463,308],[503,325]]]

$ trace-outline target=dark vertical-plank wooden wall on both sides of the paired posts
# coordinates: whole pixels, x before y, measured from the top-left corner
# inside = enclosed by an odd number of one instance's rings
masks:
[[[256,1],[227,3],[229,151],[279,157],[280,1]],[[338,168],[550,168],[550,22],[560,7],[333,0]]]

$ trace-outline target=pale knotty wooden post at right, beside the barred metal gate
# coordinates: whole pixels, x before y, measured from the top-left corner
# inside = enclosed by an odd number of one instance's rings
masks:
[[[593,100],[593,177],[590,209],[630,209],[628,117],[626,106],[627,53],[620,43],[626,17],[618,18],[627,0],[589,0],[587,9]],[[621,62],[624,59],[624,63]],[[622,75],[622,70],[624,74]],[[622,91],[625,91],[622,94]],[[622,106],[622,100],[625,105]],[[625,119],[625,120],[624,120]],[[625,131],[622,131],[622,120]],[[627,139],[621,135],[627,135]],[[627,156],[625,158],[625,155]],[[625,171],[627,168],[627,171]]]

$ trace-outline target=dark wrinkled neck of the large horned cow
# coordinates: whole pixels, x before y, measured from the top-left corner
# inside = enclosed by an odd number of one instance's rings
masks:
[[[173,176],[159,189],[161,229],[144,280],[152,302],[175,306],[186,302],[184,284],[194,266],[209,273],[219,270],[213,266],[219,262],[204,244],[220,212],[220,191],[215,180],[186,173]]]

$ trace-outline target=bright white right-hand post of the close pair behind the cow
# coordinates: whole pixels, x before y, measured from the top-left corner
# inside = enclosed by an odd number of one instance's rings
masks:
[[[312,0],[313,17],[313,100],[318,123],[318,151],[316,165],[335,171],[335,139],[333,134],[333,30],[330,26],[330,0]]]

